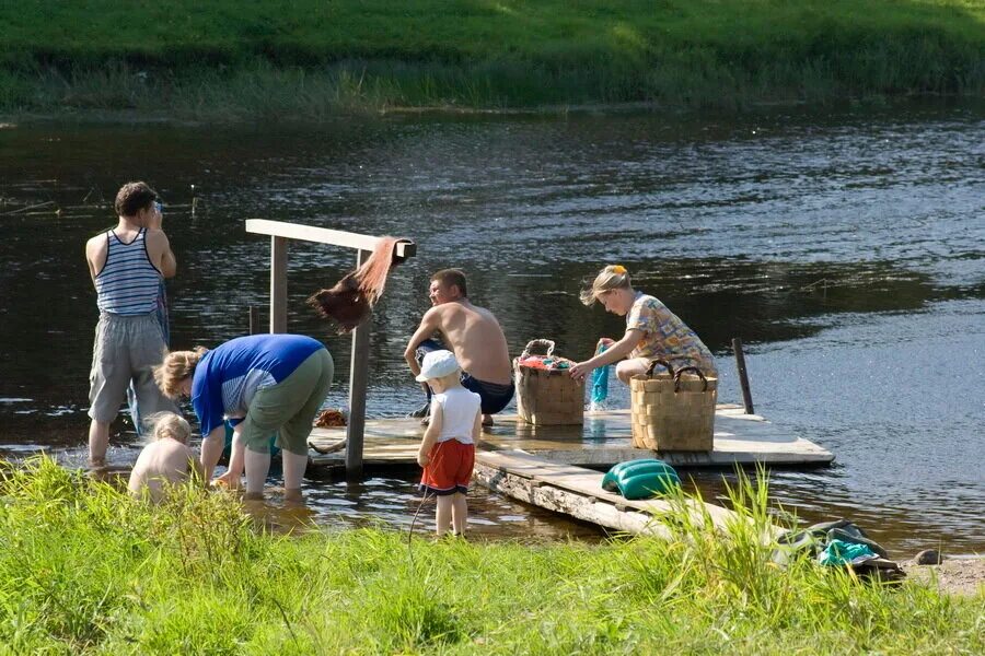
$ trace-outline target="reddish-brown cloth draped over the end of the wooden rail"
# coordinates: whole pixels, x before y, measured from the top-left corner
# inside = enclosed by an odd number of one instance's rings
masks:
[[[349,332],[369,318],[386,286],[390,269],[404,261],[396,256],[396,245],[406,241],[381,237],[368,260],[347,273],[334,288],[312,294],[308,304],[323,318],[338,324],[339,335]]]

